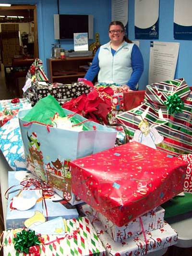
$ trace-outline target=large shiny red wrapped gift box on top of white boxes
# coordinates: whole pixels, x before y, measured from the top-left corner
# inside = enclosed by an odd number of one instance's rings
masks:
[[[71,166],[72,192],[122,226],[182,192],[187,163],[131,142]]]

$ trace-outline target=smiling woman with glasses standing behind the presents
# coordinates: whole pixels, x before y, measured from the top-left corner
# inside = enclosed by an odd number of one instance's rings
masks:
[[[125,37],[125,28],[120,21],[109,24],[110,41],[96,51],[93,62],[84,78],[93,81],[98,73],[98,82],[127,85],[137,90],[144,70],[144,61],[139,48]]]

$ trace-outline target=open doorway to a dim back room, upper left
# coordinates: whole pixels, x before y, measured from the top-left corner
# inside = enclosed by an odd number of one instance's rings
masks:
[[[21,30],[23,30],[23,31],[20,31],[21,33],[19,33],[21,48],[20,48],[20,54],[18,54],[18,51],[15,51],[15,53],[13,52],[13,49],[14,49],[13,44],[7,45],[6,50],[4,47],[4,56],[3,56],[3,51],[2,51],[3,45],[2,45],[2,35],[1,35],[0,99],[10,98],[11,96],[14,96],[14,97],[21,96],[20,95],[21,88],[23,88],[28,67],[26,67],[26,63],[24,64],[24,67],[22,67],[21,63],[19,64],[19,68],[14,67],[15,65],[14,63],[17,62],[17,59],[15,59],[14,57],[22,58],[22,55],[24,56],[24,59],[26,58],[34,59],[39,57],[36,5],[12,4],[12,6],[10,7],[0,7],[0,24],[6,25],[10,23],[12,24],[13,28],[16,24],[18,24]],[[26,33],[24,33],[25,27],[29,28],[28,31],[26,31]],[[5,30],[6,30],[6,27],[5,27]],[[8,33],[6,31],[4,32]],[[0,34],[2,34],[2,31],[0,32]],[[27,35],[27,37],[25,37],[26,36],[25,34]],[[26,46],[24,46],[24,43]],[[4,46],[5,45],[6,45],[6,42]],[[11,49],[11,52],[10,52],[10,49]],[[13,54],[14,54],[14,57],[11,56]],[[7,63],[6,61],[4,61],[6,64],[3,63],[3,57],[4,57],[4,60],[9,60],[9,63]],[[11,58],[8,59],[8,57],[11,57],[12,59]],[[15,70],[16,72],[18,71],[18,73],[15,73]],[[14,71],[14,73],[12,71]],[[16,75],[16,79],[15,79],[15,75]]]

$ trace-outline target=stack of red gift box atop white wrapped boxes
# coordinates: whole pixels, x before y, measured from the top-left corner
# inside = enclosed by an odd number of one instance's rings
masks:
[[[182,192],[187,163],[130,142],[71,166],[72,191],[87,203],[80,209],[108,256],[145,255],[177,244],[160,205]]]

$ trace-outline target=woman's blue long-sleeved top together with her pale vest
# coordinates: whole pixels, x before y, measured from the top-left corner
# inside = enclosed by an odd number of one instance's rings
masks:
[[[138,81],[144,70],[144,61],[139,48],[135,44],[123,42],[123,44],[120,46],[119,49],[117,49],[117,51],[111,49],[109,43],[101,46],[99,49],[97,49],[92,65],[85,74],[84,78],[89,81],[93,81],[97,73],[100,72],[100,60],[102,60],[101,55],[99,55],[100,50],[102,52],[106,50],[103,57],[106,59],[106,67],[103,75],[100,76],[100,74],[98,74],[98,82],[105,82],[106,80],[109,80],[113,81],[116,84],[122,84],[118,83],[118,81],[122,81],[123,84],[128,85],[130,89],[136,90],[136,85],[138,84]],[[124,57],[127,57],[127,59],[124,58],[125,62],[122,63],[120,61],[120,56],[122,57],[123,55]],[[118,60],[116,61],[116,59]],[[101,65],[101,68],[103,69],[104,65],[103,67]],[[115,74],[113,72],[114,70]],[[104,77],[105,73],[108,73],[107,77]],[[119,78],[121,80],[119,80]],[[100,79],[104,79],[105,81],[99,81]]]

